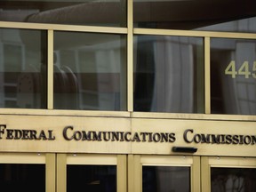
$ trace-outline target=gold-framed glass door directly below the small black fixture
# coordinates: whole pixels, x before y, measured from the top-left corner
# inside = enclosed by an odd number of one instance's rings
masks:
[[[200,191],[199,156],[130,156],[129,192]]]

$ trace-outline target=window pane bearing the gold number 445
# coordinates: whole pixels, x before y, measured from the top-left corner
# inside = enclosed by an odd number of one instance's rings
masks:
[[[256,40],[212,38],[213,114],[256,114]]]

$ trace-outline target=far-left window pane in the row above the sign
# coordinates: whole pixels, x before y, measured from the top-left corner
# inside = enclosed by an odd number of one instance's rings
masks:
[[[46,37],[0,28],[0,108],[46,108]]]

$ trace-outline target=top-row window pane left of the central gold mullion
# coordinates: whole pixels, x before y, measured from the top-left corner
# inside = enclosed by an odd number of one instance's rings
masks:
[[[1,0],[0,20],[126,27],[126,0]]]

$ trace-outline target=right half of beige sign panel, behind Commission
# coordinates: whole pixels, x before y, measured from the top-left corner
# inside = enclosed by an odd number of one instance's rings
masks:
[[[196,134],[210,134],[224,137],[224,141],[228,142],[228,135],[248,136],[246,142],[249,142],[249,137],[256,137],[256,122],[236,122],[236,121],[207,121],[207,120],[182,120],[182,119],[132,119],[132,132],[164,132],[174,133],[174,142],[161,141],[134,141],[132,142],[133,154],[165,154],[165,155],[180,155],[186,153],[172,152],[172,147],[195,147],[196,156],[256,156],[256,142],[252,144],[227,144],[227,143],[191,143],[185,142],[183,134],[188,132],[188,140],[192,140]],[[223,136],[221,136],[223,135]],[[157,135],[156,135],[157,136]],[[201,137],[198,136],[197,139]],[[156,140],[158,137],[156,137]],[[149,140],[149,139],[147,139]],[[233,140],[236,142],[236,140]]]

